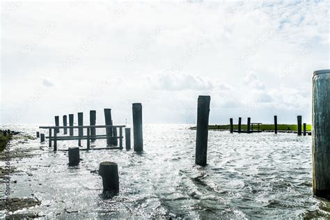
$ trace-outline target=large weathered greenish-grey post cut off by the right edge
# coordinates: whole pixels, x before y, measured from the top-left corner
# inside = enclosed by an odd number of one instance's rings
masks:
[[[330,70],[313,74],[313,193],[330,199]]]

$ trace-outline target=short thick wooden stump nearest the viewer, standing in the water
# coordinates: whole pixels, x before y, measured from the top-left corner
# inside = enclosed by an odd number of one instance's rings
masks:
[[[119,192],[118,165],[116,163],[100,163],[99,174],[102,177],[103,192]]]

